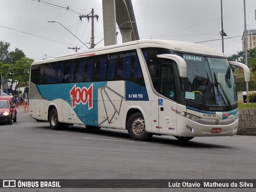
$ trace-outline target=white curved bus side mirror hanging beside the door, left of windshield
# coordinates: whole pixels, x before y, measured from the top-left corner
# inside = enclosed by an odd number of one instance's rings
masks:
[[[183,78],[187,77],[187,65],[186,65],[186,61],[182,57],[174,54],[162,54],[162,55],[157,55],[157,57],[174,60],[177,63],[177,66],[180,72],[180,77],[183,77]]]

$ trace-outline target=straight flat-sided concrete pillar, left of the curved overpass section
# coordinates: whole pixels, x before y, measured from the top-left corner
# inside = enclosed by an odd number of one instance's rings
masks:
[[[102,0],[104,46],[117,44],[116,32],[116,0]]]

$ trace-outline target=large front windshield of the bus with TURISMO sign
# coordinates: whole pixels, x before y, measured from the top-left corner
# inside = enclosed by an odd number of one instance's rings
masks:
[[[181,78],[182,98],[208,106],[236,104],[236,85],[227,59],[178,54],[187,64],[187,77]]]

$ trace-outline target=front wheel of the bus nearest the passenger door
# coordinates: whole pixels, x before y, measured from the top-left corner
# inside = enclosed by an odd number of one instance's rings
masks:
[[[146,132],[144,117],[140,112],[136,112],[130,116],[126,128],[129,136],[136,141],[149,140],[153,135],[152,133]]]

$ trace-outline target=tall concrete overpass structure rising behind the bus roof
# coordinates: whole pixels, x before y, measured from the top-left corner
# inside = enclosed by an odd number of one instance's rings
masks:
[[[104,45],[117,44],[116,29],[122,34],[122,42],[139,39],[131,0],[102,0]],[[116,24],[118,26],[116,26]]]

